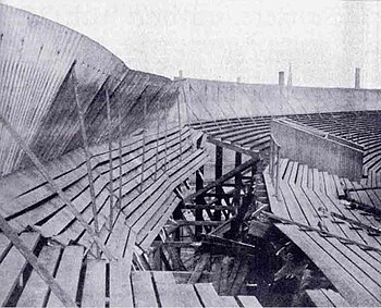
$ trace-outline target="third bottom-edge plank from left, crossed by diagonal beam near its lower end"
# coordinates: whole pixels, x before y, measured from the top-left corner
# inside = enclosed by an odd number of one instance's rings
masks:
[[[71,298],[75,298],[76,296],[84,248],[81,246],[65,247],[56,274],[57,282],[62,286],[62,288]],[[61,306],[61,301],[54,294],[51,293],[47,307],[58,306]]]

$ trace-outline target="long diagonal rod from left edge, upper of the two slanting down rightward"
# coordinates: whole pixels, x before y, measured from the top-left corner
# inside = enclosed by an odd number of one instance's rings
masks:
[[[87,222],[82,217],[82,214],[76,209],[76,207],[72,204],[70,198],[67,198],[66,195],[62,192],[62,189],[56,184],[56,182],[48,174],[48,172],[46,171],[45,167],[41,164],[41,162],[36,157],[36,155],[25,144],[25,141],[20,136],[20,134],[12,127],[12,125],[2,116],[2,114],[0,114],[0,122],[5,127],[5,130],[11,134],[11,136],[16,140],[16,143],[22,147],[22,149],[26,152],[26,155],[29,157],[32,162],[36,165],[37,170],[42,175],[45,181],[47,181],[50,184],[50,188],[52,189],[52,192],[57,193],[57,195],[60,198],[60,200],[67,206],[69,210],[75,215],[75,218],[78,220],[78,222],[82,224],[82,226],[87,231],[87,233],[98,244],[100,249],[105,252],[106,257],[109,260],[113,260],[113,257],[112,257],[111,252],[106,248],[105,244],[100,241],[100,238],[98,237],[98,234],[93,230],[91,226],[89,226],[87,224]]]

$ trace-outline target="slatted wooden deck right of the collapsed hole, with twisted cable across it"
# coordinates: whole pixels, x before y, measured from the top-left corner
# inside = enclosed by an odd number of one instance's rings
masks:
[[[379,306],[381,223],[377,215],[365,214],[340,199],[344,187],[361,185],[288,159],[281,159],[280,173],[276,198],[269,170],[263,172],[271,210],[284,219],[275,224],[278,229],[322,270],[349,305]],[[379,201],[372,190],[351,194],[357,194],[362,202]],[[315,304],[324,306],[340,303],[330,301],[337,297],[322,297],[316,291],[311,297]]]

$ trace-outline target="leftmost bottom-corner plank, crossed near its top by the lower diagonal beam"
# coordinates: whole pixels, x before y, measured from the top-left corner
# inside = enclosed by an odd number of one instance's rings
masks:
[[[26,247],[30,250],[37,244],[39,235],[37,233],[23,233],[20,239],[23,241]],[[1,307],[5,306],[7,301],[10,299],[12,291],[19,284],[19,279],[22,275],[25,266],[27,264],[23,255],[12,247],[7,254],[5,258],[2,260],[0,266],[0,304]]]

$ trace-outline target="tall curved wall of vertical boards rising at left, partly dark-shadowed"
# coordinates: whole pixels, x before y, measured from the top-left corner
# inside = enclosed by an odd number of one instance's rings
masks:
[[[124,134],[162,116],[176,96],[170,79],[130,70],[89,38],[0,4],[0,112],[42,160],[82,143],[71,70],[75,70],[77,77],[91,144],[105,139],[106,88],[111,96],[114,121],[116,107],[121,106]],[[144,101],[146,121],[142,112]],[[0,174],[25,164],[28,160],[23,151],[0,127]]]

